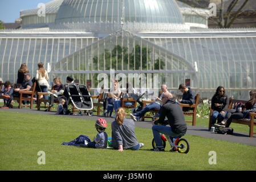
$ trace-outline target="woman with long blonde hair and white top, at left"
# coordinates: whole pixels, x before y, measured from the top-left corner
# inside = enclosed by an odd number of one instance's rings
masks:
[[[50,88],[50,85],[48,84],[48,79],[48,73],[46,69],[43,68],[43,63],[38,63],[38,70],[36,70],[35,80],[38,81],[38,84],[42,92],[48,92],[48,88]],[[44,99],[48,98],[47,95],[44,95],[43,97]]]

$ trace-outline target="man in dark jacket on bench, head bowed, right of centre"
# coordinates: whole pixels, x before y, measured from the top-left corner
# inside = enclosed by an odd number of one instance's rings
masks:
[[[178,100],[181,104],[194,104],[194,91],[191,88],[186,87],[184,84],[178,86],[178,90],[183,93],[182,100]],[[183,107],[183,111],[188,111],[189,107]]]

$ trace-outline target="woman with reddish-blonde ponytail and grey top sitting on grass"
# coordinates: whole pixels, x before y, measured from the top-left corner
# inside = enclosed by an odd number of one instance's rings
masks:
[[[139,150],[144,144],[139,143],[136,139],[134,121],[125,118],[125,115],[124,108],[120,107],[116,111],[115,121],[111,123],[113,148],[118,151],[124,149]]]

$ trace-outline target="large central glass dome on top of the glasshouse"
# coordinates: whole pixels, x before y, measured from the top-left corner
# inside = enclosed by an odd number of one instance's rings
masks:
[[[64,0],[56,28],[90,31],[187,29],[174,0]]]

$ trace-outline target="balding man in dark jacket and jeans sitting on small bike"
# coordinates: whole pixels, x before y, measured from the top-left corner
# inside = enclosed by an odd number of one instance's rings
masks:
[[[162,110],[158,120],[152,122],[153,136],[156,142],[156,148],[152,151],[164,151],[164,146],[162,146],[161,135],[169,135],[170,137],[178,137],[185,135],[186,133],[186,122],[184,115],[182,113],[181,107],[172,98],[169,93],[164,93],[162,96]],[[165,123],[165,117],[168,118],[168,123],[170,126],[157,125],[158,123]]]

